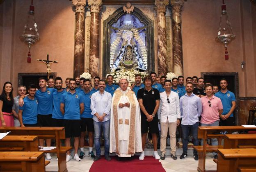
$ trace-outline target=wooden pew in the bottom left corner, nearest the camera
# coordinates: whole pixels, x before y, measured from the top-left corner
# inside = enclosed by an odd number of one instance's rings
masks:
[[[45,172],[43,152],[0,152],[0,171]]]

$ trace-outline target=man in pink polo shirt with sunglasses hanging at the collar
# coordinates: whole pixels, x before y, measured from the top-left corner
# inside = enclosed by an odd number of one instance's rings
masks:
[[[213,86],[206,85],[206,96],[201,97],[203,111],[201,114],[201,126],[219,126],[219,115],[223,112],[221,100],[213,95]],[[211,138],[212,145],[218,145],[217,138]],[[203,140],[201,140],[203,145]],[[217,152],[213,152],[213,157],[217,158]]]

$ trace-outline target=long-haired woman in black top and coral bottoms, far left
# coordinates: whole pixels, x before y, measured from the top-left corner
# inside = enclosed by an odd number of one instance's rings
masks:
[[[0,95],[0,118],[1,124],[3,127],[13,127],[14,118],[12,116],[12,106],[14,104],[14,99],[12,95],[12,84],[11,82],[5,82]]]

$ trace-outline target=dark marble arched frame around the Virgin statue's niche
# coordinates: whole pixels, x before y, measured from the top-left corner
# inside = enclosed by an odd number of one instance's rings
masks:
[[[144,13],[138,8],[134,7],[132,15],[136,16],[141,23],[146,27],[146,39],[147,39],[147,71],[153,71],[155,69],[154,63],[154,28],[153,20],[147,18]],[[123,7],[120,7],[106,20],[103,21],[103,77],[110,72],[110,34],[111,26],[117,23],[117,20],[126,13],[123,12]]]

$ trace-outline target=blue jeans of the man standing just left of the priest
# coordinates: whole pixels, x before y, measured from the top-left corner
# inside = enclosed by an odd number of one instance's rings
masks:
[[[96,156],[101,156],[101,127],[103,128],[103,137],[104,137],[104,155],[109,154],[109,147],[110,147],[110,120],[105,122],[96,122],[94,121],[94,144],[96,149]]]

